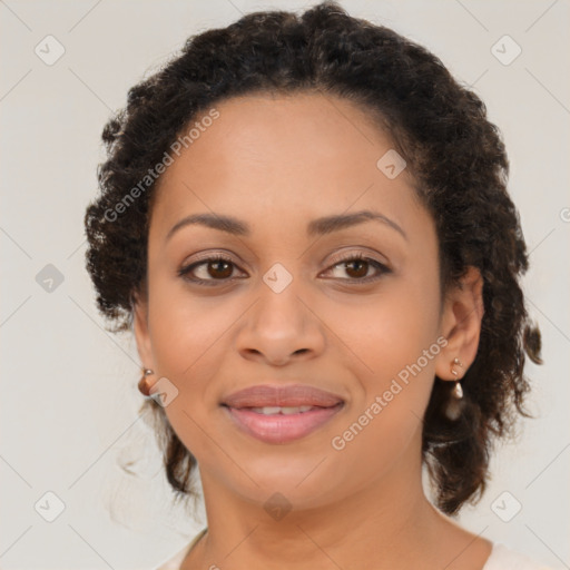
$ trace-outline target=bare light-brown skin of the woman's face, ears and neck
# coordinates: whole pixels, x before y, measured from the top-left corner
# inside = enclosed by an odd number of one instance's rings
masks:
[[[491,542],[438,511],[421,475],[421,417],[434,375],[455,380],[458,357],[461,377],[475,357],[479,272],[470,268],[440,303],[433,219],[407,170],[389,179],[376,167],[394,145],[360,107],[312,94],[246,96],[216,109],[219,118],[160,179],[148,296],[135,307],[141,362],[155,371],[151,382],[167,377],[177,387],[165,412],[203,481],[208,532],[181,568],[481,570]],[[406,237],[374,220],[306,235],[314,218],[361,209],[387,216]],[[250,235],[190,225],[166,239],[198,213],[235,216]],[[177,275],[220,250],[229,269],[194,269],[214,286]],[[357,253],[390,273],[338,262]],[[275,263],[293,277],[281,293],[263,281]],[[343,450],[333,449],[332,439],[440,336],[446,346]],[[295,442],[257,441],[218,405],[243,387],[297,382],[341,395],[345,406]],[[276,492],[292,505],[281,520],[264,509]]]

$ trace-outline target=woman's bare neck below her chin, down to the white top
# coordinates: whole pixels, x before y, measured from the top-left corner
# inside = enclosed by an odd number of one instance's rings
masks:
[[[420,453],[415,456],[420,458]],[[481,539],[476,551],[472,549],[471,566],[465,564],[465,557],[460,560],[462,566],[455,566],[459,562],[454,559],[473,543],[474,535],[440,513],[426,499],[421,459],[413,469],[409,459],[403,456],[404,461],[405,469],[396,465],[381,480],[350,495],[318,508],[294,508],[279,520],[273,520],[263,504],[236,495],[202,473],[208,532],[183,568],[230,564],[236,569],[267,570],[324,567],[480,570],[491,543]]]

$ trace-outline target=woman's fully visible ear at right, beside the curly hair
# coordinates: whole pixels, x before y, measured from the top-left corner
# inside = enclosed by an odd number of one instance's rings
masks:
[[[476,267],[470,266],[460,285],[445,295],[440,334],[448,344],[435,361],[438,377],[455,381],[465,375],[476,356],[483,313],[483,277]],[[462,364],[454,365],[456,376],[451,372],[454,358]]]

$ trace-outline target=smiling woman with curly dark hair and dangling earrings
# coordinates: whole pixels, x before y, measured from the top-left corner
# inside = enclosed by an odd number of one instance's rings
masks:
[[[473,92],[325,2],[190,38],[104,140],[87,267],[208,520],[161,568],[543,568],[452,520],[541,362]]]

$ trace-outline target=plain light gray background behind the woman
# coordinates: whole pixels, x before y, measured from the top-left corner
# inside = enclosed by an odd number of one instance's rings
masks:
[[[153,435],[137,417],[134,340],[104,331],[83,269],[82,218],[104,158],[100,132],[128,88],[189,35],[245,12],[313,3],[0,1],[1,568],[154,568],[202,528],[204,520],[169,505]],[[498,450],[491,485],[460,522],[552,568],[570,568],[570,3],[342,4],[433,50],[474,87],[502,129],[531,252],[524,288],[546,364],[527,367],[538,419],[521,423],[517,443]],[[48,35],[66,50],[52,66],[35,53]],[[504,35],[522,48],[508,66],[491,52]],[[48,264],[63,277],[51,292],[36,281]],[[121,458],[138,458],[142,476],[122,474]],[[51,523],[35,509],[48,491],[65,503]],[[510,522],[491,508],[505,491],[503,511],[513,500],[522,504]],[[56,501],[40,504],[46,512]]]

